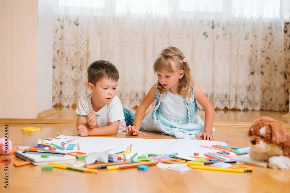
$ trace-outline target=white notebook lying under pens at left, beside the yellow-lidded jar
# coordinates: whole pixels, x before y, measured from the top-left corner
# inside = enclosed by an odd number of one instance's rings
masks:
[[[45,154],[45,153],[44,153]],[[48,165],[50,162],[54,163],[67,163],[67,162],[73,162],[76,160],[75,156],[72,155],[65,155],[63,157],[60,156],[52,156],[49,155],[49,157],[41,157],[41,154],[28,154],[28,153],[22,153],[22,151],[17,151],[15,153],[16,157],[19,157],[20,159],[23,159],[24,161],[28,161],[33,165]]]

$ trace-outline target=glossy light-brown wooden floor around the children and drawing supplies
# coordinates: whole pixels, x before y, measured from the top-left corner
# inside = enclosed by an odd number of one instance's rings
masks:
[[[37,123],[8,123],[9,138],[12,146],[22,144],[21,128],[40,127],[39,138],[51,138],[58,135],[75,135],[78,132],[75,126],[75,107],[54,107],[57,114],[48,117]],[[215,111],[215,122],[238,123],[235,127],[226,125],[216,126],[215,141],[226,142],[229,146],[249,146],[247,124],[260,116],[271,116],[281,120],[284,125],[289,120],[281,116],[287,112],[266,112],[266,111]],[[200,116],[203,117],[200,111]],[[50,124],[47,120],[61,120],[63,124]],[[64,120],[74,124],[66,124]],[[4,128],[4,123],[1,126]],[[290,128],[286,129],[290,132]],[[4,129],[2,129],[4,133]],[[173,136],[162,135],[157,132],[144,131],[148,139],[175,139]],[[3,136],[3,134],[1,134]],[[115,136],[94,136],[94,137],[117,137],[117,138],[144,138],[144,136],[130,136],[124,132]],[[144,139],[146,140],[146,139]],[[106,145],[106,144],[104,144]],[[186,148],[186,147],[185,147]],[[97,149],[97,147],[96,147]],[[289,192],[290,170],[281,171],[270,168],[256,167],[254,172],[235,173],[207,170],[191,170],[187,172],[175,172],[150,166],[149,170],[138,171],[136,168],[126,170],[107,171],[98,170],[96,174],[81,173],[71,170],[55,168],[53,171],[41,171],[41,166],[27,165],[15,167],[14,161],[21,161],[19,158],[10,156],[12,162],[8,166],[0,164],[0,192]],[[0,159],[4,158],[0,155]],[[5,173],[9,173],[9,190],[4,187]]]

